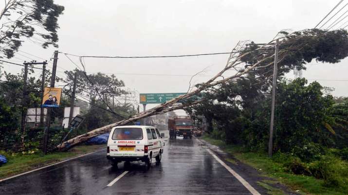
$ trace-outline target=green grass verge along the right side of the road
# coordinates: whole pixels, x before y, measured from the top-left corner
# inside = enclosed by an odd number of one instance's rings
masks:
[[[233,155],[239,161],[249,164],[256,168],[260,174],[266,177],[273,178],[292,190],[300,194],[311,195],[347,195],[347,189],[339,187],[326,187],[324,181],[321,179],[315,179],[310,176],[294,175],[285,171],[283,164],[275,162],[272,158],[268,158],[265,153],[246,151],[241,146],[226,145],[221,140],[212,139],[208,136],[202,136],[202,139],[212,145],[219,146],[225,152]],[[272,188],[264,181],[259,181],[260,186],[268,189],[269,194],[278,195],[282,194],[281,191]]]

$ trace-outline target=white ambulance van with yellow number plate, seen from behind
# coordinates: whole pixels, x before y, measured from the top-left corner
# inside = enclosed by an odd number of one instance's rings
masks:
[[[107,147],[107,159],[112,166],[125,161],[145,162],[150,167],[152,158],[161,162],[165,146],[164,133],[151,126],[120,126],[110,131]]]

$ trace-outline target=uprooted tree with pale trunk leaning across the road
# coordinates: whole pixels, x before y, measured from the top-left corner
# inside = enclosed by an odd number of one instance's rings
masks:
[[[320,62],[337,63],[348,55],[348,33],[346,30],[329,32],[310,29],[294,33],[280,32],[272,41],[261,47],[250,41],[238,42],[237,46],[232,49],[224,68],[208,81],[196,85],[194,89],[191,89],[185,95],[173,98],[127,119],[79,135],[56,147],[63,151],[68,150],[92,137],[109,132],[113,127],[126,125],[144,117],[193,106],[204,101],[204,97],[199,100],[191,100],[190,97],[197,96],[208,88],[218,87],[226,81],[234,81],[247,74],[255,74],[260,82],[268,82],[272,78],[276,40],[279,44],[279,74],[284,74],[294,68],[305,69],[304,65],[311,62],[312,59]],[[332,58],[332,56],[334,57]],[[230,73],[227,71],[232,71],[232,75],[226,76],[226,73]]]

